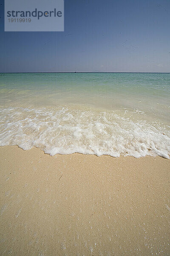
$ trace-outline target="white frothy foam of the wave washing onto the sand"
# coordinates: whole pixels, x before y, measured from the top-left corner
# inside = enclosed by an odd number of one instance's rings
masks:
[[[125,113],[127,111],[125,110]],[[106,112],[68,108],[6,108],[0,110],[0,145],[24,150],[41,148],[55,154],[112,157],[146,155],[170,158],[170,129]]]

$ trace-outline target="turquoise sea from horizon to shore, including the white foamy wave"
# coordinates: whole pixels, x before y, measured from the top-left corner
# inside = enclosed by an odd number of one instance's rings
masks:
[[[170,158],[170,73],[1,73],[5,145]]]

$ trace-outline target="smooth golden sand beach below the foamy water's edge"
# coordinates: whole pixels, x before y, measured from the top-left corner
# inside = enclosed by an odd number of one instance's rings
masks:
[[[168,255],[170,160],[0,147],[0,255]]]

